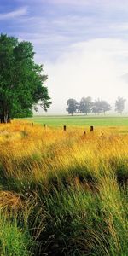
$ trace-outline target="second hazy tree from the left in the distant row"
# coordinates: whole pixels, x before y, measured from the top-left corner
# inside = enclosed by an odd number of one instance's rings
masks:
[[[92,107],[92,101],[91,101],[91,97],[83,97],[81,99],[81,101],[79,102],[79,112],[80,113],[84,113],[84,114],[88,114],[91,112],[91,107]]]

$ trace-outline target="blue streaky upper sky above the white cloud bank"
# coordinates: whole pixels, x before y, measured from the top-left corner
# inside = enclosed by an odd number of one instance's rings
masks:
[[[30,40],[44,61],[93,38],[128,39],[128,1],[1,0],[1,32]]]

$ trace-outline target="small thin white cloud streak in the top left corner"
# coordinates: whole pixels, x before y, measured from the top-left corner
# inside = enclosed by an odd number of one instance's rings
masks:
[[[14,11],[0,14],[0,20],[11,20],[27,14],[27,8],[23,7]]]

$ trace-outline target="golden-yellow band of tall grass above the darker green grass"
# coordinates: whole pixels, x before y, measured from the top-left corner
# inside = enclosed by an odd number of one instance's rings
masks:
[[[98,174],[102,163],[109,172],[110,159],[127,159],[128,134],[121,133],[123,129],[96,128],[90,133],[87,127],[84,136],[82,128],[64,132],[28,123],[0,125],[0,163],[7,177],[37,181],[51,171],[67,172],[75,166]]]

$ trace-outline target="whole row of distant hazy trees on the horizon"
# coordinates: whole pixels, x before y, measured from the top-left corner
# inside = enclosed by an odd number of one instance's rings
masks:
[[[118,96],[115,102],[115,111],[117,113],[123,113],[125,109],[125,99],[123,97]],[[89,113],[106,113],[112,109],[112,106],[103,100],[97,99],[95,102],[92,101],[90,96],[82,97],[80,102],[77,102],[75,99],[70,98],[67,100],[67,112],[69,114],[73,113],[83,113],[87,115]]]

